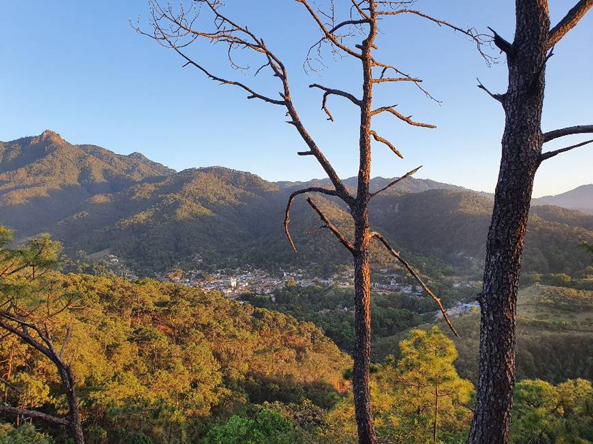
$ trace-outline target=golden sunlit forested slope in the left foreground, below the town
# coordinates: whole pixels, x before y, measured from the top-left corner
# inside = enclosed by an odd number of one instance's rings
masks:
[[[329,408],[347,387],[350,359],[313,324],[218,292],[42,270],[0,278],[0,303],[46,320],[56,347],[68,334],[63,359],[98,442],[186,443],[250,403]],[[1,341],[0,371],[8,404],[67,413],[55,368],[36,350]]]

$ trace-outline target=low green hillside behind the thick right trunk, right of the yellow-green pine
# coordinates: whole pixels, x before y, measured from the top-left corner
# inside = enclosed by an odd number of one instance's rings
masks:
[[[593,291],[535,284],[519,292],[517,302],[517,377],[551,383],[566,378],[593,380]],[[432,323],[431,323],[432,324]],[[422,328],[429,328],[426,324]],[[477,382],[480,314],[474,310],[454,318],[460,339],[456,363],[460,375]],[[444,332],[444,322],[439,322]],[[375,345],[375,358],[397,352],[400,335]]]

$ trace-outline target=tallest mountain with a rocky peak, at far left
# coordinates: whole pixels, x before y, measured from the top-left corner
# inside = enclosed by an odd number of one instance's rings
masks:
[[[21,236],[51,229],[98,193],[116,192],[173,170],[140,153],[73,145],[53,131],[0,142],[2,223]]]

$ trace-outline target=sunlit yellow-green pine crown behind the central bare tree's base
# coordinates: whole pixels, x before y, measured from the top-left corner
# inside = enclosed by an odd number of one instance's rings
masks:
[[[452,341],[436,327],[412,330],[400,342],[401,359],[388,359],[371,381],[375,427],[384,442],[425,444],[453,442],[471,419],[471,382],[461,379],[453,362]],[[330,412],[322,432],[328,442],[356,442],[350,397]],[[435,425],[436,424],[436,425]]]

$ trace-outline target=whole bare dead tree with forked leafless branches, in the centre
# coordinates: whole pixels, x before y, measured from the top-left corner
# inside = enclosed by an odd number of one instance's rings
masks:
[[[386,82],[412,82],[413,85],[417,86],[425,94],[429,95],[425,89],[422,88],[420,79],[407,75],[397,67],[388,65],[387,63],[378,62],[373,56],[373,50],[377,48],[375,45],[375,37],[377,37],[378,23],[384,16],[388,15],[400,15],[400,14],[412,14],[418,17],[425,18],[426,20],[435,22],[438,25],[444,25],[452,28],[455,31],[463,33],[465,36],[470,37],[480,47],[482,44],[482,36],[475,33],[472,28],[461,29],[455,27],[443,20],[432,18],[420,11],[414,9],[401,9],[402,5],[407,2],[390,1],[390,0],[351,0],[351,5],[346,8],[346,13],[349,15],[349,19],[344,21],[335,20],[337,11],[336,5],[330,2],[330,11],[321,11],[318,7],[313,7],[308,0],[297,0],[313,18],[315,24],[321,31],[320,40],[315,43],[311,51],[321,52],[321,45],[323,43],[329,43],[333,52],[353,57],[358,59],[362,65],[362,98],[356,97],[355,94],[351,94],[340,89],[327,88],[326,86],[318,85],[314,83],[310,85],[310,88],[317,88],[323,91],[323,101],[321,109],[326,113],[328,120],[333,121],[329,109],[327,108],[327,99],[330,96],[340,96],[350,101],[355,107],[360,110],[360,132],[359,132],[359,171],[358,171],[358,187],[356,189],[356,195],[350,194],[346,189],[342,180],[337,175],[333,166],[327,158],[321,152],[321,149],[317,146],[313,137],[308,133],[298,112],[292,102],[291,91],[289,88],[288,71],[285,65],[280,61],[279,57],[273,53],[263,38],[256,36],[250,28],[237,24],[236,21],[231,20],[224,12],[222,12],[222,3],[219,0],[196,0],[197,3],[202,5],[206,11],[212,13],[213,21],[215,24],[216,31],[202,31],[197,29],[197,15],[195,15],[195,9],[186,10],[183,8],[183,4],[178,9],[173,9],[170,5],[162,7],[157,0],[151,1],[152,7],[152,32],[145,33],[140,28],[136,30],[144,34],[145,36],[151,37],[160,43],[162,46],[168,47],[175,50],[183,59],[186,61],[184,66],[193,66],[213,81],[219,82],[222,85],[234,85],[238,88],[243,89],[248,93],[249,99],[260,99],[264,102],[273,105],[279,105],[285,108],[286,116],[288,117],[288,123],[296,128],[301,136],[302,141],[307,145],[308,150],[298,152],[299,156],[313,156],[320,163],[321,167],[325,170],[331,180],[331,184],[334,189],[321,188],[321,187],[310,187],[295,191],[291,194],[288,199],[288,205],[286,205],[285,214],[285,231],[288,237],[289,243],[292,248],[297,252],[294,242],[292,242],[291,235],[289,233],[289,213],[292,202],[295,197],[300,194],[307,193],[321,193],[332,197],[337,197],[342,200],[347,207],[350,209],[352,214],[353,224],[355,227],[354,239],[352,242],[346,239],[336,226],[334,226],[330,220],[323,214],[319,207],[311,200],[307,199],[307,202],[311,205],[311,208],[317,212],[324,225],[323,228],[329,229],[337,239],[345,246],[353,256],[353,263],[355,269],[355,352],[354,352],[354,370],[353,370],[353,391],[354,391],[354,402],[355,402],[355,413],[356,413],[356,424],[358,426],[358,440],[360,444],[376,444],[377,435],[375,433],[375,427],[372,420],[371,411],[371,397],[369,393],[369,363],[371,359],[371,284],[369,278],[369,243],[374,237],[377,237],[392,255],[416,278],[416,280],[422,285],[422,288],[427,291],[431,297],[438,302],[439,308],[447,319],[447,313],[442,307],[441,301],[432,294],[430,289],[422,282],[422,279],[417,275],[412,266],[409,265],[400,253],[391,248],[387,243],[387,240],[380,234],[371,232],[368,220],[368,204],[374,195],[381,191],[384,191],[390,186],[396,185],[402,179],[415,173],[418,168],[410,171],[406,175],[399,179],[394,180],[381,190],[371,193],[369,191],[369,182],[371,177],[371,137],[377,142],[386,145],[391,149],[397,156],[403,157],[396,147],[387,139],[379,136],[376,131],[372,129],[371,121],[375,115],[381,113],[388,113],[398,120],[403,121],[406,124],[425,128],[434,128],[435,126],[425,123],[413,121],[411,117],[406,117],[396,110],[395,106],[386,106],[379,108],[372,108],[373,102],[373,88],[379,83]],[[326,22],[329,21],[329,22]],[[193,26],[196,28],[193,28]],[[200,28],[201,29],[201,28]],[[348,42],[355,37],[362,35],[362,42],[359,44],[350,45]],[[237,49],[252,50],[254,55],[259,54],[263,57],[263,64],[255,71],[255,74],[262,72],[266,69],[272,76],[280,81],[279,99],[273,98],[273,96],[261,94],[260,92],[254,91],[250,86],[231,81],[229,79],[222,78],[220,76],[213,75],[204,66],[197,63],[191,57],[187,56],[184,52],[184,48],[193,41],[202,38],[211,42],[222,42],[228,46],[228,56],[231,62],[231,66],[239,68],[240,65],[234,62],[233,52]],[[307,59],[305,65],[311,62],[313,59]],[[241,68],[239,68],[241,69]],[[393,77],[385,76],[386,73],[394,73]],[[449,323],[449,326],[451,324]]]

